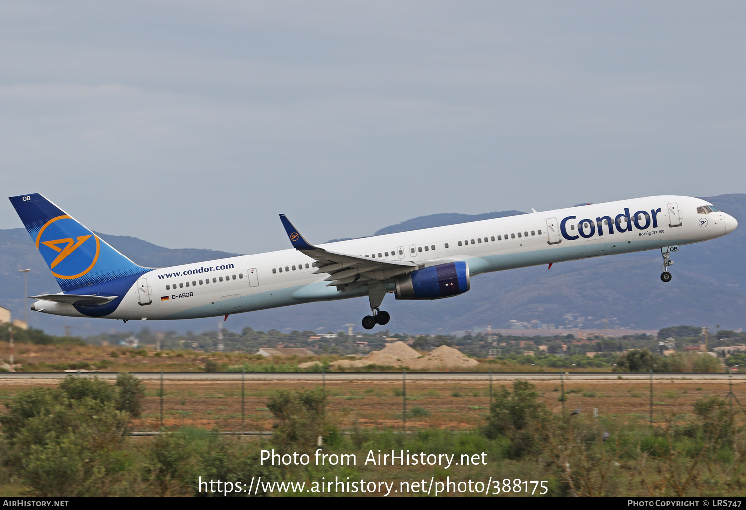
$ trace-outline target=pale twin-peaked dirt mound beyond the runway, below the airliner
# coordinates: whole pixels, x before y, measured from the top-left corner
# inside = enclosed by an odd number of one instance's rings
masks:
[[[374,350],[363,359],[339,359],[330,366],[338,368],[363,368],[367,365],[389,367],[421,368],[476,368],[479,362],[463,355],[458,350],[442,345],[427,356],[420,354],[403,341],[386,346],[383,350]]]

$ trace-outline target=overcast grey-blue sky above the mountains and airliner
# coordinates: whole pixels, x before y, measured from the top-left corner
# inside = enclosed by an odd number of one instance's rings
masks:
[[[746,192],[738,1],[0,2],[0,183],[169,248]],[[0,228],[21,227],[0,201]]]

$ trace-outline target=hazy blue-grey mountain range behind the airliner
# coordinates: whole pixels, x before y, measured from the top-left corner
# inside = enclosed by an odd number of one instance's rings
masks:
[[[395,300],[388,295],[383,309],[392,315],[387,327],[409,333],[451,333],[511,324],[555,324],[566,327],[628,327],[659,329],[675,324],[695,324],[724,329],[746,327],[746,269],[740,265],[746,251],[746,194],[705,198],[733,215],[739,228],[719,239],[682,246],[673,257],[671,283],[660,280],[659,251],[639,252],[578,260],[546,266],[484,274],[472,280],[471,291],[435,301]],[[503,211],[481,215],[444,213],[421,216],[384,227],[375,234],[436,227],[463,221],[521,214]],[[225,251],[198,248],[163,248],[129,236],[97,233],[134,262],[146,267],[202,262],[227,256]],[[0,230],[0,306],[23,318],[23,277],[28,273],[29,295],[59,292],[42,257],[25,229]],[[367,298],[308,303],[285,308],[232,315],[225,322],[231,330],[346,330],[368,310]],[[29,311],[31,325],[49,333],[72,327],[73,335],[101,331],[139,330],[143,324],[88,318],[63,318]],[[220,318],[222,321],[222,318]],[[533,322],[532,322],[533,321]],[[214,330],[218,318],[148,323],[151,330]]]

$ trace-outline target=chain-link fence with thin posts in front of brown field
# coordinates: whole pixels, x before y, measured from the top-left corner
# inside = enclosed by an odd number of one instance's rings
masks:
[[[231,379],[166,377],[143,380],[145,402],[133,432],[160,429],[219,430],[269,433],[273,417],[267,401],[277,391],[319,389],[327,397],[327,412],[342,430],[368,429],[475,429],[485,423],[492,399],[504,386],[506,374],[465,379],[422,377],[422,374],[303,374],[297,379],[273,379],[236,374]],[[383,375],[383,374],[379,374]],[[578,379],[565,374],[530,379],[552,412],[586,417],[613,417],[625,423],[663,421],[691,416],[703,397],[724,399],[737,409],[746,405],[746,381],[728,377],[659,379],[644,374],[618,379]],[[93,377],[83,376],[80,377]],[[498,379],[500,377],[500,379]],[[510,376],[513,379],[520,375]],[[22,389],[57,380],[0,380],[0,399],[7,401]],[[0,412],[2,410],[0,409]],[[746,413],[744,414],[746,416]]]

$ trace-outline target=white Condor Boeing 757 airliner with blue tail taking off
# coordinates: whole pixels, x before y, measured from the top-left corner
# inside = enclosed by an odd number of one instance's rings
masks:
[[[671,281],[680,245],[724,236],[736,220],[699,198],[656,196],[312,245],[285,215],[293,248],[171,268],[142,268],[43,195],[11,197],[63,292],[31,296],[37,312],[160,320],[214,317],[368,296],[363,327],[386,324],[383,298],[439,299],[471,277],[660,249]]]

